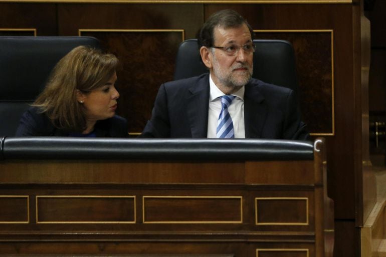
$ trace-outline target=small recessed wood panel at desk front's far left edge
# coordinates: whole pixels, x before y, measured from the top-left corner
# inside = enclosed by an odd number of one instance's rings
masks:
[[[0,223],[28,223],[28,195],[0,195]]]

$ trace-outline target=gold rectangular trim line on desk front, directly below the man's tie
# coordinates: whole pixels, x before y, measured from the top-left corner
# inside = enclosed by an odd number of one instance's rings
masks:
[[[145,221],[145,198],[205,198],[205,199],[240,199],[240,221]],[[142,222],[152,224],[229,224],[243,223],[243,196],[192,196],[192,195],[144,195],[142,196]]]

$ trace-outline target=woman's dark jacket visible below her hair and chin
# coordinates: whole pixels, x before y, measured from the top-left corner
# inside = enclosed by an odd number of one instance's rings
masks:
[[[95,124],[97,137],[128,137],[128,124],[125,118],[118,115],[100,120]],[[37,107],[30,107],[20,119],[16,136],[68,136],[68,131],[56,128],[45,113]]]

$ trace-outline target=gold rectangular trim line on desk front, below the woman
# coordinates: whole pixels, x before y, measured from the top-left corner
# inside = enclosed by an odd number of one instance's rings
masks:
[[[134,220],[133,221],[39,221],[38,198],[133,198]],[[40,224],[132,224],[136,223],[136,196],[135,195],[37,195],[36,201],[36,223]]]

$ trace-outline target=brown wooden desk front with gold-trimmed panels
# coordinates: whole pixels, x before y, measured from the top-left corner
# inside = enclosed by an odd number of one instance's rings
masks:
[[[294,161],[0,161],[0,256],[330,256],[323,146]]]

